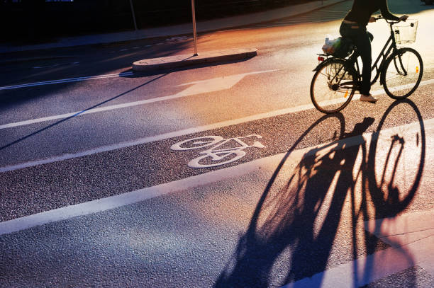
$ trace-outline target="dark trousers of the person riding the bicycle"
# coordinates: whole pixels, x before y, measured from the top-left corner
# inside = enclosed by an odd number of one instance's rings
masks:
[[[360,93],[369,95],[371,90],[371,64],[372,64],[372,51],[371,41],[374,36],[367,32],[366,26],[360,24],[342,23],[340,25],[340,35],[342,37],[350,38],[356,45],[357,51],[362,57],[362,86]]]

